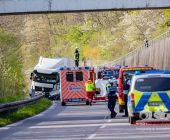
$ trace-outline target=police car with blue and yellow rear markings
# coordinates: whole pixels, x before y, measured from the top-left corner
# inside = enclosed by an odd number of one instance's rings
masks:
[[[127,105],[130,124],[142,119],[170,119],[169,70],[136,71]]]

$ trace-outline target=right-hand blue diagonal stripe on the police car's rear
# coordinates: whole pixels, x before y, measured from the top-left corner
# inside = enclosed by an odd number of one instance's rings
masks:
[[[170,110],[170,98],[166,92],[158,93],[159,97],[161,98],[162,102],[164,103],[165,107]]]

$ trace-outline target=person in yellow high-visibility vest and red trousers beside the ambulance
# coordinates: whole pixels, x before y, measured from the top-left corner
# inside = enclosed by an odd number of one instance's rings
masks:
[[[90,78],[88,79],[88,81],[85,83],[85,87],[86,87],[86,93],[87,93],[87,101],[86,101],[86,105],[88,105],[92,102],[92,98],[93,98],[93,89],[94,89],[94,84],[92,83],[92,81],[90,80]]]

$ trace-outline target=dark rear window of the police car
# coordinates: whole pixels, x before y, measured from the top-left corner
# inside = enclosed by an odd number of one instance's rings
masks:
[[[141,92],[169,91],[170,78],[167,77],[149,77],[139,78],[135,81],[135,90]]]

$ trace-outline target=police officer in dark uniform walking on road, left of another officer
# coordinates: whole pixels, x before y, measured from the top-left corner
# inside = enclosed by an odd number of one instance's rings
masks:
[[[119,89],[114,85],[114,81],[113,80],[109,80],[111,86],[108,87],[108,91],[107,91],[107,97],[109,99],[108,101],[108,108],[111,112],[110,117],[111,118],[115,118],[116,117],[116,112],[114,110],[115,105],[116,105],[116,99],[117,99],[117,95],[116,92],[119,93]]]

